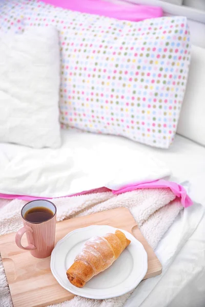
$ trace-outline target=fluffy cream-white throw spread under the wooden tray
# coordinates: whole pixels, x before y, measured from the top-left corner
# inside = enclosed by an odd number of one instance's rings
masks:
[[[57,207],[57,221],[117,207],[129,208],[142,234],[155,249],[163,234],[174,222],[183,207],[170,189],[139,189],[119,195],[112,192],[91,193],[87,195],[59,198],[53,200]],[[0,201],[0,235],[17,231],[22,227],[20,210],[25,201]],[[70,301],[55,304],[55,307],[121,307],[131,293],[105,300],[92,300],[75,296]],[[12,300],[0,259],[0,302],[11,307]]]

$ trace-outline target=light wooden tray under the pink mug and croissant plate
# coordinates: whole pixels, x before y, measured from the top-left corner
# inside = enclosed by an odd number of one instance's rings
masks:
[[[137,228],[126,208],[107,210],[56,224],[56,242],[70,231],[89,225],[110,225],[131,232],[148,253],[148,272],[144,279],[159,275],[161,264]],[[26,237],[22,239],[26,246]],[[15,233],[0,236],[0,251],[14,307],[42,307],[72,299],[74,295],[62,288],[50,270],[50,257],[37,259],[15,244]]]

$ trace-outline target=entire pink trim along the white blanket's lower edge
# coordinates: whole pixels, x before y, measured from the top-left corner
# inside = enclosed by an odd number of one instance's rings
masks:
[[[155,181],[151,181],[151,182],[139,182],[139,183],[135,183],[135,184],[129,184],[126,185],[122,188],[120,188],[119,190],[112,190],[113,194],[121,194],[121,193],[125,193],[125,192],[129,192],[129,191],[133,191],[133,190],[137,190],[137,189],[154,189],[154,188],[170,188],[172,190],[172,192],[181,199],[181,205],[185,208],[193,205],[192,200],[190,199],[190,197],[187,194],[187,191],[185,190],[185,188],[183,188],[180,184],[177,184],[175,182],[171,182],[171,181],[167,181],[167,180],[155,180]],[[77,196],[77,195],[82,195],[82,194],[90,194],[90,193],[97,193],[97,192],[108,192],[111,191],[110,189],[106,188],[106,187],[101,187],[98,189],[92,189],[89,191],[83,191],[80,193],[76,193],[76,194],[72,194],[72,195],[67,195],[67,196],[61,196],[61,197],[71,197],[71,196]],[[32,200],[39,200],[39,199],[51,199],[51,198],[43,198],[43,197],[35,197],[35,196],[29,196],[29,195],[12,195],[12,194],[2,194],[0,193],[0,198],[2,199],[8,199],[8,200],[12,200],[12,199],[19,199],[19,200],[24,200],[24,201],[32,201]]]

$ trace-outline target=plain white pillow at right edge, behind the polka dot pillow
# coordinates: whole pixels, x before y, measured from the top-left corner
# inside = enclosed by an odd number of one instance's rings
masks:
[[[191,64],[177,133],[205,145],[205,49],[192,46]]]

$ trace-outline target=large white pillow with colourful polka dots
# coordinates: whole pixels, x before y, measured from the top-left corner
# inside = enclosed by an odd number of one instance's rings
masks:
[[[133,23],[33,0],[21,3],[25,29],[59,30],[63,127],[169,147],[190,62],[185,17]]]

